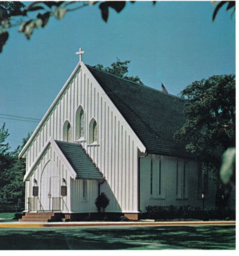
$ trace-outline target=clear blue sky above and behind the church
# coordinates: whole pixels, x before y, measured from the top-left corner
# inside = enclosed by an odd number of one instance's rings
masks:
[[[11,28],[0,54],[0,127],[6,123],[11,149],[37,122],[4,115],[41,119],[77,65],[80,47],[84,63],[131,60],[128,75],[156,89],[162,82],[174,95],[195,80],[235,73],[235,16],[222,8],[212,22],[214,8],[210,1],[128,2],[121,13],[111,9],[105,23],[95,5],[60,21],[51,17],[30,40]]]

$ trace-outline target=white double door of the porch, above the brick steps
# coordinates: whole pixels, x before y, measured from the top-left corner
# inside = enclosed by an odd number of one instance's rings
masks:
[[[41,208],[52,211],[53,199],[60,197],[60,177],[41,177]]]

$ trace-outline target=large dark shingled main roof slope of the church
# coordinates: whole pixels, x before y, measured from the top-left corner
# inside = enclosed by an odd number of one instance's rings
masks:
[[[145,145],[148,153],[189,156],[173,138],[185,122],[184,100],[87,65],[91,74]]]

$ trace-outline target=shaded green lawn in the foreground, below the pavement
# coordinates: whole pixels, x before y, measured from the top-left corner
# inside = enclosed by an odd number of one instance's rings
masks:
[[[1,228],[0,250],[235,250],[235,226]]]

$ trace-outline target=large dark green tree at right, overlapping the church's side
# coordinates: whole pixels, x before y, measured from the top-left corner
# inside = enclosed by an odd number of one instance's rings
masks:
[[[214,170],[218,206],[226,205],[230,195],[219,171],[223,152],[235,147],[235,90],[235,75],[231,74],[195,81],[180,93],[185,98],[186,122],[175,137],[186,142],[186,149],[202,163],[203,171]]]

